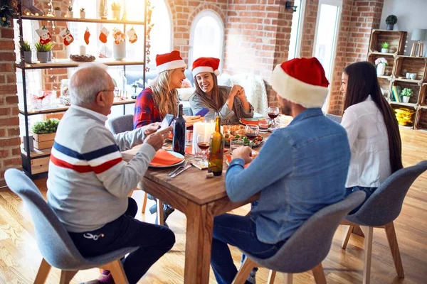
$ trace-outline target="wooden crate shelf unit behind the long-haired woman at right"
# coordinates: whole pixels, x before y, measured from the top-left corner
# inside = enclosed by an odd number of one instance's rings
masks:
[[[427,58],[403,55],[406,43],[406,31],[372,30],[369,40],[367,60],[374,64],[377,58],[384,57],[388,61],[384,76],[378,76],[381,89],[386,92],[387,98],[393,109],[413,109],[413,126],[403,128],[427,131]],[[381,53],[381,43],[390,44],[392,52]],[[416,80],[406,79],[406,72],[416,73]],[[392,89],[400,86],[408,87],[413,91],[413,97],[408,103],[395,102]]]

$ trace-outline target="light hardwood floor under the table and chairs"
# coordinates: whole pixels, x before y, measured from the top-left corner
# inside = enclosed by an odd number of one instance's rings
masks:
[[[401,129],[404,165],[414,165],[427,160],[427,133]],[[46,197],[46,179],[36,180],[36,185]],[[142,192],[132,197],[142,206]],[[149,201],[150,202],[150,201]],[[147,204],[147,208],[153,203]],[[234,210],[235,214],[246,214],[249,207]],[[154,216],[139,214],[139,219],[154,222]],[[167,223],[176,234],[176,244],[152,266],[139,283],[182,283],[184,275],[185,224],[184,214],[174,212]],[[389,250],[384,229],[374,229],[372,246],[371,283],[427,283],[427,173],[416,182],[404,201],[399,218],[394,222],[405,278],[396,278],[393,258]],[[313,232],[313,238],[316,237]],[[363,239],[352,236],[347,250],[341,249],[344,226],[339,227],[329,255],[323,261],[327,283],[362,283]],[[239,266],[241,253],[232,249],[233,259]],[[0,283],[33,283],[41,254],[38,252],[31,219],[23,203],[9,190],[0,191]],[[71,283],[97,278],[99,271],[80,271]],[[52,268],[47,283],[59,282],[59,271]],[[261,268],[257,283],[266,283],[268,271]],[[216,283],[211,272],[210,283]],[[295,283],[314,283],[312,273],[301,273],[294,277]],[[277,273],[275,283],[284,283],[282,273]]]

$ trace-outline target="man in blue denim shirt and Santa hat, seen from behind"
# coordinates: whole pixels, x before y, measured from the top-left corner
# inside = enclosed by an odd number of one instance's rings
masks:
[[[344,128],[322,113],[329,83],[320,62],[283,62],[270,82],[283,114],[294,119],[271,134],[255,160],[249,147],[233,151],[226,173],[228,197],[241,202],[260,193],[260,199],[247,216],[214,219],[211,266],[220,284],[232,283],[237,273],[228,244],[270,258],[307,219],[345,193],[349,141]]]

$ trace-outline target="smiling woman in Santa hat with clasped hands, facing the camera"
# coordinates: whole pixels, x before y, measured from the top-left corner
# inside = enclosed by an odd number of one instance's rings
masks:
[[[253,117],[253,107],[241,86],[218,86],[218,67],[218,58],[198,58],[193,62],[196,91],[189,99],[193,113],[208,109],[205,120],[220,116],[222,124],[238,124],[241,118]]]

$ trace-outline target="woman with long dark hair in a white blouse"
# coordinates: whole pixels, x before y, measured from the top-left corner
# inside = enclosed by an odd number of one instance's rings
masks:
[[[399,125],[370,62],[345,67],[340,90],[344,94],[341,124],[352,150],[347,195],[363,190],[368,199],[389,175],[403,168]]]

